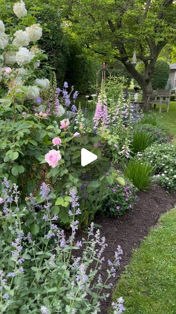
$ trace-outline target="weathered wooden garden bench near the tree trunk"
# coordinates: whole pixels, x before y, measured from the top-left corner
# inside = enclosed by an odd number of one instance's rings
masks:
[[[169,101],[171,97],[171,89],[157,89],[156,93],[153,93],[151,95],[147,95],[147,106],[149,108],[152,108],[152,105],[154,105],[154,108],[156,105],[159,105],[159,113],[161,113],[161,106],[163,104],[167,105],[167,112],[169,111]]]

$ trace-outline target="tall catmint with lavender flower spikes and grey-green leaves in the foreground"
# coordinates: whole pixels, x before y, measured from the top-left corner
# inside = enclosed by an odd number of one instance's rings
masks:
[[[1,183],[0,313],[100,313],[100,301],[109,296],[104,291],[112,287],[110,278],[116,276],[120,265],[121,247],[117,247],[114,261],[107,262],[107,275],[102,277],[106,239],[99,230],[94,232],[91,223],[87,239],[77,240],[79,221],[75,216],[81,211],[76,187],[71,186],[69,192],[71,232],[67,236],[51,210],[50,187],[42,183],[39,192],[40,204],[30,194],[26,205],[19,206],[18,186],[7,179]],[[37,211],[42,213],[40,220]],[[29,212],[33,219],[28,218]],[[112,306],[114,314],[125,311],[122,298]]]

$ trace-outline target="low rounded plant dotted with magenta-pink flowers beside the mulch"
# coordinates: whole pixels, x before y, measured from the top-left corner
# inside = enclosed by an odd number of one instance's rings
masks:
[[[114,171],[115,169],[113,169]],[[121,175],[119,171],[116,171],[116,173]],[[105,198],[102,211],[99,211],[99,213],[112,217],[122,215],[127,210],[133,208],[136,200],[136,191],[137,189],[129,179],[125,180],[125,185],[121,185],[117,180],[114,180],[113,184],[109,186],[109,194]]]

